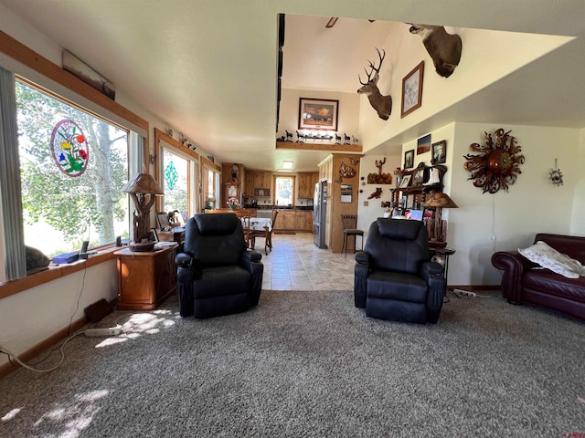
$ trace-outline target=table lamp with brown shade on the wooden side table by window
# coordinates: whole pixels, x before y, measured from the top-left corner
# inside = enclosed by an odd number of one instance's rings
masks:
[[[149,240],[150,221],[149,212],[157,194],[164,194],[160,185],[148,173],[136,173],[133,178],[122,187],[123,193],[130,193],[135,211],[133,214],[134,236],[130,244],[131,251],[152,251],[154,242]]]

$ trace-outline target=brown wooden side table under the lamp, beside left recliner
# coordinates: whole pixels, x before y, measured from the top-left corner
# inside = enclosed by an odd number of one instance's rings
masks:
[[[124,248],[114,253],[118,256],[120,310],[152,310],[175,292],[177,246],[174,243],[148,252]]]

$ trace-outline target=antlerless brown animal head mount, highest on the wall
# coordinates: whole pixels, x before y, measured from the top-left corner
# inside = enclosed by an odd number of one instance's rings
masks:
[[[409,24],[410,33],[422,37],[422,44],[431,55],[437,73],[449,78],[461,59],[461,37],[449,34],[443,26]]]

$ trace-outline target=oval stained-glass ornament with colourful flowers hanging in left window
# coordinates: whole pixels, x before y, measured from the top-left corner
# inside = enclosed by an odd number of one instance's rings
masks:
[[[51,134],[51,154],[58,170],[75,178],[81,176],[90,161],[90,149],[80,126],[73,120],[61,120]]]

